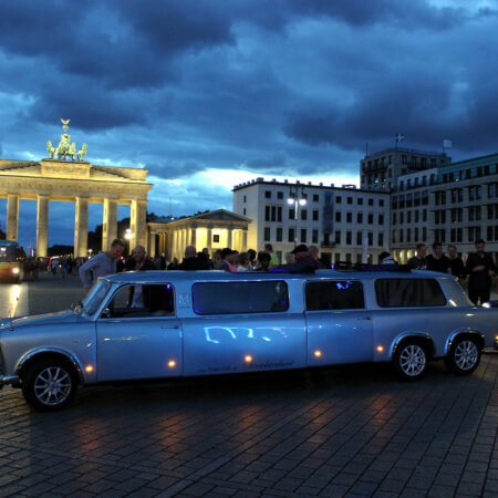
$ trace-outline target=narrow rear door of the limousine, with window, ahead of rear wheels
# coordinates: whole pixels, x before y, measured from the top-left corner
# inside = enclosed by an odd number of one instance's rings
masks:
[[[370,362],[372,313],[355,280],[312,281],[305,286],[308,365]]]

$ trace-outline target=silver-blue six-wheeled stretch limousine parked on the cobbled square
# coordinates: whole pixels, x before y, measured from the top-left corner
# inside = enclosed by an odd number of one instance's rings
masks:
[[[473,305],[448,274],[385,268],[105,277],[73,311],[1,323],[0,386],[55,409],[77,384],[359,362],[392,362],[412,381],[436,359],[471,373],[498,310]]]

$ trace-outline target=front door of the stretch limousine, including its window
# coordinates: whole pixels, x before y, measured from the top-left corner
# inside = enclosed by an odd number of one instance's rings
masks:
[[[154,302],[137,307],[135,300],[132,308],[137,288],[121,288],[97,320],[98,382],[183,374],[181,323],[174,315],[172,286],[143,286]]]

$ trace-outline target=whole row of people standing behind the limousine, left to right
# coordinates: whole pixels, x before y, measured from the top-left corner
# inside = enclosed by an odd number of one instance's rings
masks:
[[[489,301],[492,277],[496,276],[496,266],[492,257],[485,252],[485,241],[479,239],[475,243],[476,252],[467,258],[466,262],[457,253],[454,245],[448,246],[448,256],[444,255],[443,245],[434,242],[432,255],[427,256],[427,246],[417,243],[415,256],[407,261],[407,266],[417,270],[429,270],[449,273],[464,282],[468,277],[468,295],[474,304],[480,300],[483,304]],[[176,258],[169,263],[164,255],[154,260],[147,257],[143,246],[136,246],[128,258],[122,259],[125,243],[116,239],[112,242],[111,249],[101,252],[84,262],[80,269],[80,278],[86,292],[90,291],[92,282],[98,277],[115,273],[118,271],[145,271],[145,270],[225,270],[225,271],[267,271],[272,268],[302,271],[305,269],[331,268],[329,259],[319,257],[317,246],[297,246],[292,251],[286,252],[286,263],[281,264],[271,243],[266,243],[264,249],[256,252],[249,249],[239,252],[230,248],[218,249],[212,258],[207,248],[197,252],[194,246],[187,246],[185,257],[179,262]],[[380,256],[382,263],[396,263],[388,252]],[[498,279],[497,279],[498,292]]]

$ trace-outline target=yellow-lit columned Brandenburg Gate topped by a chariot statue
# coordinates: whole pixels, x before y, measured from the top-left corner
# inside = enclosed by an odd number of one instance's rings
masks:
[[[86,144],[77,152],[70,144],[68,121],[55,149],[48,142],[51,158],[40,162],[0,160],[0,197],[7,198],[7,239],[18,240],[19,200],[38,201],[37,256],[46,256],[49,205],[75,204],[74,256],[87,256],[89,204],[103,204],[102,249],[107,250],[117,237],[117,206],[131,206],[129,246],[147,246],[147,169],[96,166],[82,160]],[[50,144],[50,145],[49,145]],[[56,158],[54,156],[58,156]],[[66,157],[70,159],[66,159]]]

